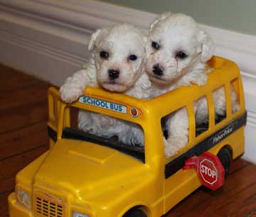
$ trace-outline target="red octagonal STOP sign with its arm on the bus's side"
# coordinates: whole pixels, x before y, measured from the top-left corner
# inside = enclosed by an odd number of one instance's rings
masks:
[[[195,168],[201,183],[215,191],[222,187],[225,181],[225,170],[219,158],[209,152],[199,157],[191,157],[185,162],[183,169]]]

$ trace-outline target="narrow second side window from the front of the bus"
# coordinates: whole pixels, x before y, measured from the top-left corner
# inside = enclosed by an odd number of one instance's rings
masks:
[[[193,109],[196,119],[196,136],[198,136],[209,128],[209,109],[206,96],[194,101]]]

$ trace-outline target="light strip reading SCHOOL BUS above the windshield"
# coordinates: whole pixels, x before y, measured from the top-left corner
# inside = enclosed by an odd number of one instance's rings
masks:
[[[83,104],[88,104],[92,106],[97,106],[102,109],[108,109],[111,111],[117,111],[120,113],[127,113],[127,106],[121,105],[121,104],[115,104],[110,101],[105,101],[102,99],[93,98],[90,96],[81,96],[79,98],[79,101]]]

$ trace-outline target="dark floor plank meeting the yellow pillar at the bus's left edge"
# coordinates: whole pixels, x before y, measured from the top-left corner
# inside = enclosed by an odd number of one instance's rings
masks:
[[[0,113],[0,134],[40,123],[47,119],[48,104],[45,100],[7,109],[4,113]]]

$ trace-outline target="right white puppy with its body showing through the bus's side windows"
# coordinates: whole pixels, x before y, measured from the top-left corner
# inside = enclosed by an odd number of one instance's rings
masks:
[[[190,16],[164,13],[151,23],[146,55],[146,72],[156,88],[155,96],[159,96],[181,86],[206,84],[206,74],[210,71],[206,61],[213,55],[213,41]],[[216,112],[223,113],[224,89],[215,91],[213,98]],[[233,99],[235,101],[236,96]],[[206,120],[206,99],[194,104],[194,112],[197,122]],[[171,114],[166,125],[169,138],[164,138],[164,145],[166,157],[169,157],[188,143],[186,109]]]

